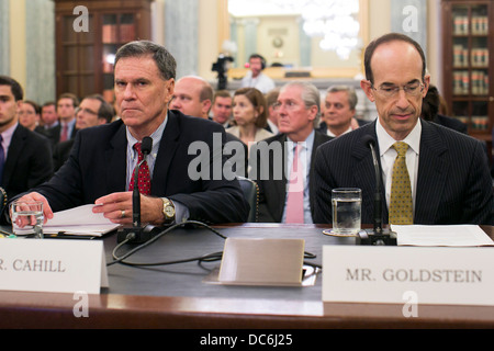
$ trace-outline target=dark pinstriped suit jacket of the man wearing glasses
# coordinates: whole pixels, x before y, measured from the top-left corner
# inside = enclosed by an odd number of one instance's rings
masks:
[[[374,168],[362,137],[377,139],[375,123],[318,148],[315,223],[332,223],[330,192],[344,186],[362,190],[362,224],[373,223]],[[493,186],[482,144],[434,123],[422,121],[422,126],[414,224],[492,225]],[[383,204],[383,223],[388,223],[384,201]]]

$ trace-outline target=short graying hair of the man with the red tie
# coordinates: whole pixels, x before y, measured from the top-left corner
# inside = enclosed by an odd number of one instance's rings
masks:
[[[158,66],[165,80],[176,78],[177,61],[173,56],[161,45],[149,41],[134,41],[123,45],[115,55],[115,66],[121,58],[150,56]]]

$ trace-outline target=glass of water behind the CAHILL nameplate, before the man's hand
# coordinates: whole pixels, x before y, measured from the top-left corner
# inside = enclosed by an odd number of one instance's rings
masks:
[[[15,235],[33,235],[43,239],[43,202],[18,200],[10,204],[12,231]]]

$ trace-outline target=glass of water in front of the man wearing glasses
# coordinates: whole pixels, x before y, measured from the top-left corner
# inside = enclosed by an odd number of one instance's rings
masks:
[[[332,191],[333,233],[357,235],[360,230],[362,191],[358,188],[337,188]]]

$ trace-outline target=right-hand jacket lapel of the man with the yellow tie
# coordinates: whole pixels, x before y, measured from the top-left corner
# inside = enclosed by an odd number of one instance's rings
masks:
[[[434,127],[429,123],[423,122],[415,197],[414,222],[416,223],[433,223],[436,218],[449,172],[444,157],[448,149]]]

